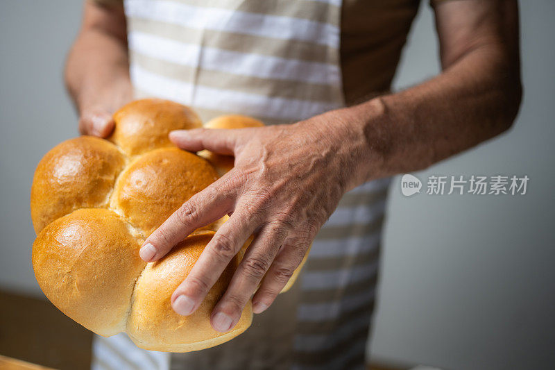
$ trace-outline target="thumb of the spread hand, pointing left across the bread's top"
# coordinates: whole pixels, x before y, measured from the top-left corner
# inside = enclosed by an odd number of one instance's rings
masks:
[[[208,149],[218,154],[234,155],[239,135],[237,129],[194,128],[192,130],[176,130],[169,133],[169,140],[181,149],[201,151]]]

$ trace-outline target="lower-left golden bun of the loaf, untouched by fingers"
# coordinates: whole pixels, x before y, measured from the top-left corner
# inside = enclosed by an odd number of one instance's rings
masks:
[[[83,208],[46,226],[33,243],[42,292],[81,325],[108,337],[126,329],[141,238],[111,210]]]

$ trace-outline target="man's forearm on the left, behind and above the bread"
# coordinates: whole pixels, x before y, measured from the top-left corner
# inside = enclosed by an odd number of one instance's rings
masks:
[[[131,84],[122,9],[85,3],[83,26],[67,58],[65,81],[80,112],[99,101],[112,111],[126,102]]]

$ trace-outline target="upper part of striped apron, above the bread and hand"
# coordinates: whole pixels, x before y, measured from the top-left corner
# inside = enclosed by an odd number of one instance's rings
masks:
[[[313,20],[339,22],[339,12],[327,1],[127,1],[130,74],[140,95],[187,103],[203,119],[311,117],[343,103],[339,26]]]

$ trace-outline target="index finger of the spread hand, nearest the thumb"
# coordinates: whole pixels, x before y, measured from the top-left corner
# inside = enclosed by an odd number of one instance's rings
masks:
[[[139,250],[140,257],[146,262],[159,260],[194,230],[231,212],[235,199],[234,190],[223,187],[222,184],[225,184],[225,178],[217,180],[183,203],[164,224],[146,238]]]

